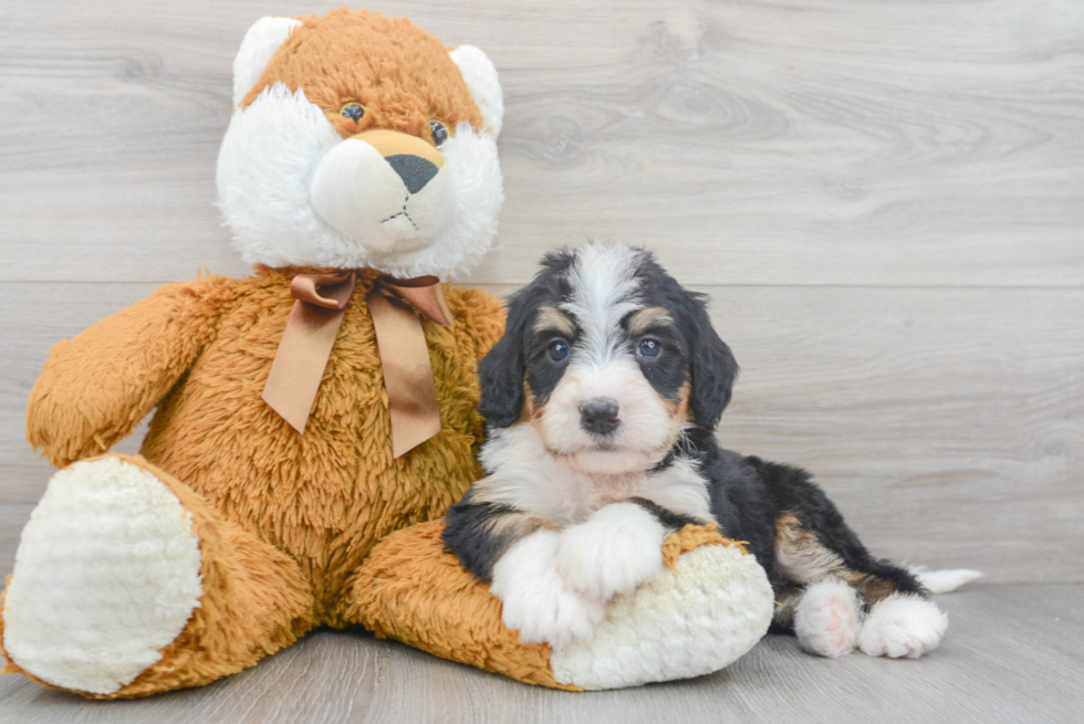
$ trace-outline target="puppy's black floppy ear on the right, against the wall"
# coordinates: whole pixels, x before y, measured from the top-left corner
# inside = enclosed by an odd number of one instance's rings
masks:
[[[738,377],[738,360],[711,326],[706,307],[707,296],[691,292],[686,292],[685,296],[692,419],[700,427],[713,430],[730,403],[734,378]]]

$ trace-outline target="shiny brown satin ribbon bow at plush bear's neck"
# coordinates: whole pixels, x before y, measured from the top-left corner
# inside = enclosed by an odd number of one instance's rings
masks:
[[[293,312],[271,364],[263,400],[298,432],[305,431],[357,273],[298,274],[290,284]],[[421,321],[404,302],[441,326],[451,325],[436,276],[376,280],[368,309],[381,353],[392,417],[392,450],[400,458],[440,432],[437,388]]]

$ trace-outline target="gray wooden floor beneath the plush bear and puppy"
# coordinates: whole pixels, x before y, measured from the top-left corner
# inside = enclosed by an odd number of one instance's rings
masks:
[[[626,691],[555,692],[435,659],[364,631],[321,631],[229,680],[128,702],[84,702],[0,676],[0,721],[33,724],[345,722],[1080,722],[1084,587],[941,596],[940,649],[918,661],[817,659],[768,637],[729,669]]]

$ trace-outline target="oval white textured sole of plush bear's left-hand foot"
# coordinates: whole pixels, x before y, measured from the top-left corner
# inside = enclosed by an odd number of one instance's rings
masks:
[[[119,458],[53,475],[23,529],[3,646],[55,686],[110,694],[160,659],[199,606],[191,514]]]

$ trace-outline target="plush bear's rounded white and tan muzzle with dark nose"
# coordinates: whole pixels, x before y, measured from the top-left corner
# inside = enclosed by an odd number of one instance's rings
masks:
[[[428,143],[369,130],[332,148],[312,178],[313,209],[375,254],[432,244],[456,208],[444,157]]]

